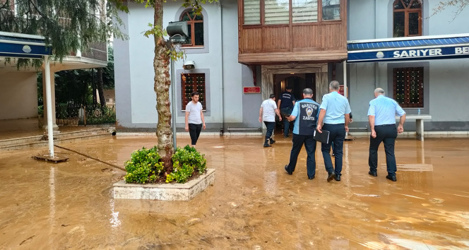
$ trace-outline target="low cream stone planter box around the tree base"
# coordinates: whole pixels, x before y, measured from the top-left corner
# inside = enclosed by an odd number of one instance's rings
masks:
[[[196,179],[184,184],[114,184],[114,198],[132,200],[190,201],[215,182],[215,169],[207,169]]]

